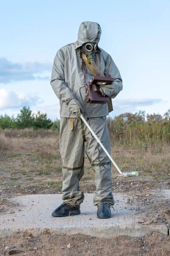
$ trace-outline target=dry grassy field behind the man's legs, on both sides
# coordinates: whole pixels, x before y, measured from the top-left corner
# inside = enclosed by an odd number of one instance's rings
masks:
[[[150,147],[127,147],[111,141],[111,155],[122,171],[138,170],[139,179],[168,180],[170,178],[170,145],[155,143]],[[0,136],[1,187],[51,186],[62,183],[62,160],[59,134],[46,137]],[[112,167],[112,176],[117,171]],[[87,187],[94,185],[94,171],[85,158]]]

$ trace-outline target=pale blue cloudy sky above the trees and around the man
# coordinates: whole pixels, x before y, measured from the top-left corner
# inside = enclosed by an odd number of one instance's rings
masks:
[[[26,105],[59,118],[52,64],[86,20],[100,24],[99,47],[122,76],[110,115],[170,108],[169,0],[0,0],[0,115],[16,116]]]

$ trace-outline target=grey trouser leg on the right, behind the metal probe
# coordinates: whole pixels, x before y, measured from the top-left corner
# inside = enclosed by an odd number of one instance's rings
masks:
[[[106,116],[91,118],[91,128],[102,141],[108,152],[111,153]],[[111,184],[111,161],[100,146],[99,156],[98,143],[91,136],[88,128],[85,128],[85,138],[87,141],[86,154],[95,171],[96,191],[94,192],[94,205],[101,202],[114,204]]]

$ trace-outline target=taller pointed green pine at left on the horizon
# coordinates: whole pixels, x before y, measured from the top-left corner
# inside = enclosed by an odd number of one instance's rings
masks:
[[[23,129],[23,128],[30,128],[33,127],[34,122],[34,114],[32,114],[32,111],[28,107],[23,107],[20,109],[20,114],[17,114],[16,118],[16,128]]]

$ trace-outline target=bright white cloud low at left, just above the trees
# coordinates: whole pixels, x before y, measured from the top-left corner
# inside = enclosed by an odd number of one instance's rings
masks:
[[[42,100],[35,93],[16,93],[0,89],[0,110],[37,105],[41,102]]]

